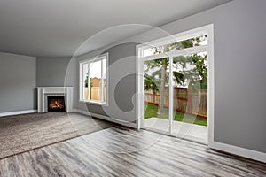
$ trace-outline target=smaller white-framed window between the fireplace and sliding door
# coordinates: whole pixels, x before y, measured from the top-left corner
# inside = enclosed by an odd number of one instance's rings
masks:
[[[80,62],[80,101],[107,104],[108,53]]]

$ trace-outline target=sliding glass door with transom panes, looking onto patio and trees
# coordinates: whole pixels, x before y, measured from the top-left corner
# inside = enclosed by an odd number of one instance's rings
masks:
[[[138,48],[142,128],[207,143],[207,33]]]

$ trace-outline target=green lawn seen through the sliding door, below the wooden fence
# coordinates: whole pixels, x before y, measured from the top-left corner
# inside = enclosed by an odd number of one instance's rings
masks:
[[[158,106],[153,104],[145,104],[145,119],[149,119],[152,117],[161,118],[161,119],[168,119],[168,110],[166,109],[165,114],[158,115]],[[200,126],[207,126],[207,119],[203,119],[200,117],[195,117],[189,114],[186,114],[184,119],[184,113],[176,112],[175,119],[176,121],[183,121],[187,123],[193,123]]]

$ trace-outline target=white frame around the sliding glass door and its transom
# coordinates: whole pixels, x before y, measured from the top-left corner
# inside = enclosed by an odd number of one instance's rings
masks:
[[[168,44],[171,42],[180,42],[195,36],[207,35],[207,45],[198,46],[193,48],[188,48],[184,50],[174,50],[169,51],[167,53],[157,54],[153,56],[143,56],[143,50],[150,48],[150,46],[161,46],[164,44]],[[207,74],[207,145],[212,147],[214,144],[214,134],[215,134],[215,55],[214,55],[214,25],[210,24],[204,27],[198,27],[195,29],[191,29],[176,35],[171,35],[168,37],[163,37],[158,40],[154,40],[152,42],[145,42],[144,44],[139,44],[136,47],[137,53],[137,129],[144,128],[144,90],[143,90],[143,62],[145,60],[150,60],[153,58],[163,58],[168,57],[170,62],[172,62],[172,58],[179,55],[188,55],[193,53],[198,53],[201,51],[207,50],[207,65],[208,65],[208,74]],[[171,87],[170,87],[171,88]],[[172,90],[169,90],[169,94],[172,94]],[[172,103],[169,103],[172,104]],[[171,110],[171,109],[170,109]],[[171,113],[171,112],[170,112]],[[172,115],[172,114],[171,114]],[[170,128],[169,133],[171,132],[171,124],[172,119],[169,121]],[[167,133],[168,134],[168,133]],[[169,134],[170,135],[170,134]]]

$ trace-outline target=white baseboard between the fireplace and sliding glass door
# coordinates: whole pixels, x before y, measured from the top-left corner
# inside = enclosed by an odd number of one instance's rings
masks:
[[[88,115],[88,116],[95,117],[95,118],[98,118],[98,119],[104,119],[104,120],[107,120],[107,121],[111,121],[113,123],[120,124],[121,126],[137,128],[137,124],[135,124],[135,123],[127,122],[127,121],[123,121],[123,120],[119,120],[119,119],[110,118],[108,116],[100,115],[100,114],[97,114],[97,113],[85,112],[85,111],[78,110],[78,109],[73,109],[73,112],[79,112],[79,113],[82,113],[84,115]]]

